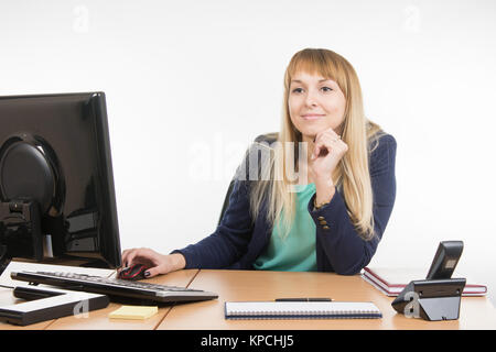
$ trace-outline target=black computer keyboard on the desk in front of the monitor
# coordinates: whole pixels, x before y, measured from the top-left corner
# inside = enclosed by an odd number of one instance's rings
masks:
[[[175,302],[206,300],[218,297],[215,293],[201,289],[75,273],[11,272],[10,276],[13,279],[32,284],[45,284],[64,289],[104,294],[109,296],[110,299],[121,297],[140,301]]]

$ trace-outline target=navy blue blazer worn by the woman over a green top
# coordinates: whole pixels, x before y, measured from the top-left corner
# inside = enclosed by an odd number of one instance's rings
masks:
[[[370,147],[369,170],[374,193],[376,237],[363,240],[355,230],[339,189],[330,204],[313,210],[315,195],[309,201],[309,213],[316,226],[316,264],[319,272],[354,275],[371,260],[388,223],[396,198],[396,140],[382,134]],[[373,143],[373,144],[374,144]],[[172,253],[182,253],[186,268],[254,270],[252,264],[269,244],[271,224],[265,207],[257,219],[250,216],[249,183],[237,179],[229,206],[217,229],[209,237]],[[325,220],[326,224],[321,224]],[[325,227],[325,228],[324,228]]]

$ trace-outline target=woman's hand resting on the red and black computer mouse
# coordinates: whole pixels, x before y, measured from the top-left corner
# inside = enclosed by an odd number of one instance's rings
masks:
[[[122,265],[125,267],[142,264],[147,267],[148,277],[182,270],[186,266],[186,260],[181,253],[160,254],[150,249],[132,249],[122,252]]]

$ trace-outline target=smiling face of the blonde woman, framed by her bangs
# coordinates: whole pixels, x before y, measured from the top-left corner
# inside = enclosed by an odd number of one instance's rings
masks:
[[[328,128],[341,133],[346,99],[339,86],[331,79],[308,73],[296,73],[289,91],[291,121],[303,135],[303,141]]]

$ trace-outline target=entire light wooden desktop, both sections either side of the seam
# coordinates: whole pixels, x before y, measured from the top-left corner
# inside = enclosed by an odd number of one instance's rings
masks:
[[[396,314],[387,297],[359,275],[330,273],[290,273],[262,271],[188,270],[174,272],[148,282],[186,286],[215,292],[218,299],[161,307],[159,314],[144,321],[109,319],[120,305],[90,311],[88,317],[65,317],[29,327],[0,323],[1,329],[107,329],[107,330],[265,330],[265,329],[496,329],[496,310],[485,297],[463,297],[459,320],[424,321]],[[226,320],[225,301],[273,300],[278,297],[331,297],[334,300],[373,301],[382,312],[381,319],[324,320]],[[2,305],[12,301],[11,292],[0,290]]]

